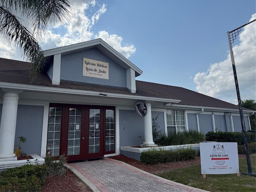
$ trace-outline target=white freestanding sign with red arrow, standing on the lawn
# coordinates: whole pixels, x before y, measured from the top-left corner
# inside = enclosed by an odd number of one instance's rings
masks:
[[[236,142],[200,143],[201,174],[239,173]]]

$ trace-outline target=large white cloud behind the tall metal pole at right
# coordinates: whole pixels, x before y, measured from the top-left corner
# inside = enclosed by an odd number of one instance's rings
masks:
[[[251,20],[256,18],[252,15]],[[239,35],[240,43],[234,46],[234,60],[241,99],[256,98],[256,25],[245,26]],[[194,76],[196,89],[202,94],[238,104],[230,52],[226,60],[211,64],[206,72]]]

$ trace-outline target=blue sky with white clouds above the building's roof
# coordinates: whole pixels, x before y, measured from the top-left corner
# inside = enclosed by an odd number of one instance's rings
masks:
[[[70,23],[50,26],[39,40],[43,50],[102,38],[143,71],[136,80],[180,86],[237,104],[226,32],[256,18],[255,0],[72,4]],[[255,26],[253,22],[243,28],[232,44],[242,99],[256,98]],[[6,44],[0,46],[0,57],[21,58]]]

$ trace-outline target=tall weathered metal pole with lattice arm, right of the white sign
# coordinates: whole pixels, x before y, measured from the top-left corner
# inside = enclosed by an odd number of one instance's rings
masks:
[[[230,56],[231,56],[235,84],[236,84],[236,94],[237,94],[238,106],[239,106],[239,112],[240,112],[240,118],[241,118],[241,124],[242,124],[242,132],[243,132],[243,136],[244,136],[244,147],[245,147],[245,152],[246,152],[246,160],[247,160],[247,166],[248,166],[248,172],[245,172],[242,174],[248,174],[248,175],[255,175],[255,173],[252,173],[252,165],[251,165],[251,160],[250,160],[250,152],[249,152],[249,148],[248,148],[248,140],[247,140],[246,129],[245,129],[245,124],[244,124],[244,114],[243,114],[240,92],[239,92],[239,87],[238,87],[238,80],[237,80],[237,76],[236,76],[236,66],[235,66],[234,54],[233,54],[233,50],[232,50],[232,43],[234,43],[234,40],[236,39],[236,36],[238,36],[239,32],[241,31],[241,28],[254,22],[254,21],[256,21],[256,19],[251,22],[248,22],[245,25],[240,26],[230,32],[229,31],[227,32],[229,48],[230,48]]]

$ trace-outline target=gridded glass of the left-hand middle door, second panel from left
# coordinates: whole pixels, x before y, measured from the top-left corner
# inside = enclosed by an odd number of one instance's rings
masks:
[[[80,154],[81,108],[69,108],[68,155]]]

